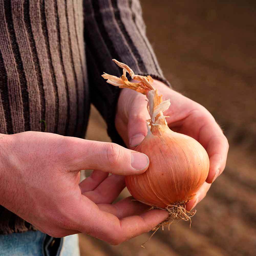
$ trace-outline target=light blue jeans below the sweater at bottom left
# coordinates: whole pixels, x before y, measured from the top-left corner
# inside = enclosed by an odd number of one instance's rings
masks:
[[[53,238],[40,231],[0,235],[0,256],[79,256],[78,235]]]

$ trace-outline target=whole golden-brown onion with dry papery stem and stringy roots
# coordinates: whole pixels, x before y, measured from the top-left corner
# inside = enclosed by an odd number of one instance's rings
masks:
[[[138,201],[169,211],[169,218],[161,226],[174,219],[190,220],[195,212],[186,211],[185,204],[195,196],[208,176],[208,154],[194,138],[169,129],[163,112],[169,108],[170,100],[162,101],[150,76],[135,75],[124,63],[113,61],[123,68],[122,77],[104,73],[103,78],[114,86],[145,94],[151,117],[146,121],[147,136],[135,148],[149,157],[149,167],[143,174],[126,176],[126,186]],[[126,72],[138,83],[128,81]]]

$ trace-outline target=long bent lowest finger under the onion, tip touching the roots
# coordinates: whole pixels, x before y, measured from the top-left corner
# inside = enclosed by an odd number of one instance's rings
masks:
[[[91,209],[88,209],[87,200],[89,199],[84,197],[84,208],[80,207],[78,211],[74,211],[80,220],[77,221],[77,229],[115,245],[152,230],[169,216],[164,210],[154,209],[139,216],[119,220],[116,216],[101,211],[96,205],[91,205]]]

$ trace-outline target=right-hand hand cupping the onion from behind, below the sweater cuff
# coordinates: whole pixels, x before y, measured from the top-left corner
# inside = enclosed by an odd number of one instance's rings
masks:
[[[228,153],[228,141],[223,135],[213,116],[200,104],[186,98],[154,80],[154,88],[163,95],[163,100],[170,99],[170,107],[164,112],[171,130],[189,135],[206,149],[210,159],[210,170],[206,182],[196,196],[187,204],[190,210],[206,195],[210,185],[223,172]],[[147,134],[145,120],[150,116],[147,111],[146,96],[122,89],[118,101],[115,126],[129,148],[135,148]]]

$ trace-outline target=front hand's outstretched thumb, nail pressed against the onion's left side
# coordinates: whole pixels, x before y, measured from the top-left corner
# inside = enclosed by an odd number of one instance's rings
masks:
[[[145,172],[148,157],[115,143],[89,141],[75,137],[64,137],[60,162],[66,168],[98,169],[118,175],[134,175]]]

